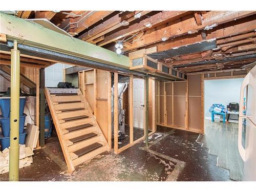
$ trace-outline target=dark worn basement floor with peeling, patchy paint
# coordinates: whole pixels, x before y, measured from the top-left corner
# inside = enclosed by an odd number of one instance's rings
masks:
[[[105,152],[76,167],[67,166],[56,135],[34,151],[31,166],[19,169],[21,181],[230,181],[229,171],[216,166],[217,156],[197,143],[199,134],[158,127],[150,137],[115,155]],[[8,179],[8,173],[0,180]]]

